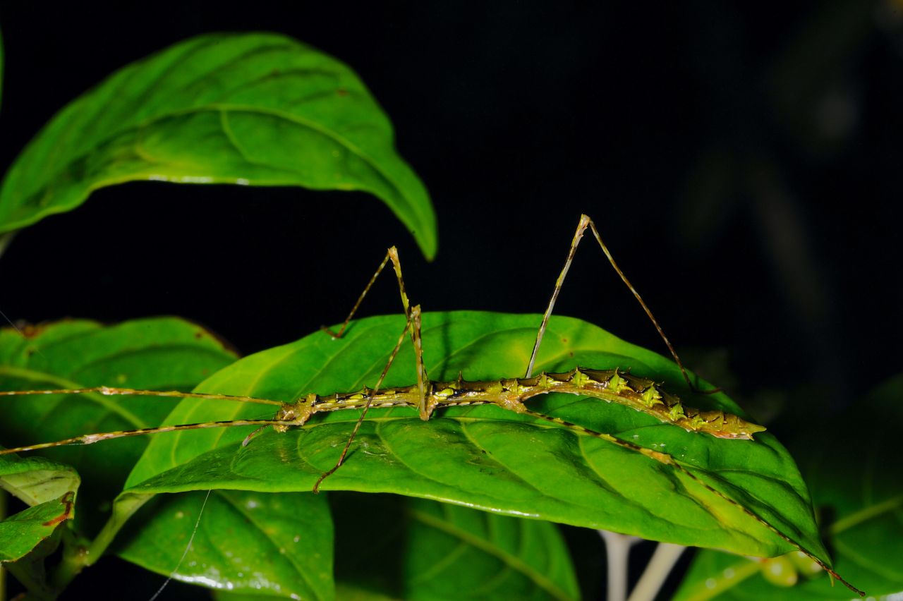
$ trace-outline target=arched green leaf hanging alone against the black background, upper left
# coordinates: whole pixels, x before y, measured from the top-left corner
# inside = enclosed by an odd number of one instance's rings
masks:
[[[436,251],[430,199],[369,90],[339,60],[275,33],[192,38],[70,103],[7,174],[0,233],[132,180],[364,190],[428,258]]]

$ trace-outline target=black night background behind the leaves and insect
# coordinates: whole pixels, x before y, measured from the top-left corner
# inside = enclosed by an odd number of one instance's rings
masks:
[[[133,60],[203,32],[284,32],[386,109],[440,249],[427,264],[365,194],[131,183],[21,232],[0,310],[181,315],[249,354],[343,319],[398,245],[424,310],[539,312],[585,212],[686,363],[780,437],[900,369],[896,6],[5,2],[4,168]],[[664,352],[587,243],[557,312]],[[392,286],[363,314],[398,312]]]

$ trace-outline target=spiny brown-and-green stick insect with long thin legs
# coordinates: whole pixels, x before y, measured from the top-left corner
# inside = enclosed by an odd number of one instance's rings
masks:
[[[428,421],[432,417],[433,411],[435,411],[437,408],[451,407],[456,405],[494,404],[508,411],[515,411],[519,414],[530,416],[539,420],[550,421],[557,426],[563,426],[564,428],[576,430],[582,434],[605,440],[610,444],[639,453],[647,458],[659,462],[660,464],[668,466],[677,472],[680,472],[684,476],[694,480],[698,485],[703,486],[703,488],[711,492],[713,495],[720,497],[722,500],[740,509],[740,511],[747,513],[750,517],[768,528],[768,530],[777,534],[779,538],[787,541],[797,549],[804,550],[807,555],[813,557],[815,561],[817,561],[825,570],[827,570],[833,578],[841,579],[844,584],[850,587],[850,585],[843,581],[842,578],[837,576],[829,566],[825,565],[821,560],[816,559],[813,553],[805,550],[805,548],[803,548],[799,543],[789,538],[783,532],[777,530],[777,528],[771,525],[770,522],[759,516],[757,513],[753,513],[743,504],[740,504],[730,496],[721,493],[721,491],[719,491],[714,486],[709,485],[708,483],[703,481],[690,469],[684,467],[684,465],[682,465],[682,463],[675,459],[673,456],[659,450],[640,446],[628,440],[619,439],[607,433],[584,428],[581,425],[575,424],[571,421],[564,421],[561,418],[546,415],[545,413],[540,411],[531,410],[526,406],[525,402],[536,395],[553,392],[571,393],[579,394],[582,396],[589,396],[605,400],[607,402],[617,402],[637,411],[647,413],[655,417],[659,421],[673,424],[677,427],[683,428],[684,430],[698,432],[700,435],[708,435],[715,438],[749,440],[753,438],[753,435],[756,432],[765,430],[762,426],[743,420],[739,416],[727,411],[700,411],[687,407],[677,396],[667,392],[661,384],[658,384],[655,381],[644,377],[630,374],[628,370],[622,370],[617,367],[607,370],[575,367],[567,372],[541,372],[539,374],[533,373],[536,356],[542,344],[542,339],[548,325],[548,320],[553,312],[555,301],[557,300],[561,288],[563,287],[564,279],[573,262],[573,257],[576,253],[576,249],[587,229],[591,230],[592,235],[598,241],[602,251],[608,257],[610,264],[619,274],[621,280],[628,286],[628,289],[634,294],[643,310],[645,310],[645,312],[647,313],[648,318],[653,322],[659,335],[665,341],[666,347],[668,347],[671,355],[675,358],[675,362],[679,366],[681,374],[683,374],[684,376],[685,382],[688,384],[691,390],[693,390],[694,385],[692,384],[689,375],[684,369],[684,365],[675,352],[674,347],[667,339],[664,331],[659,326],[651,310],[648,309],[646,303],[638,294],[638,291],[636,291],[636,289],[628,281],[624,273],[622,273],[619,269],[607,246],[603,243],[599,232],[591,219],[589,217],[582,216],[577,231],[573,236],[573,241],[567,259],[563,266],[563,270],[559,274],[558,279],[555,282],[553,295],[548,303],[548,306],[543,315],[542,322],[538,328],[533,350],[526,367],[526,374],[523,377],[511,377],[493,381],[473,382],[464,380],[463,376],[459,374],[459,377],[455,380],[439,382],[431,381],[428,374],[426,373],[423,359],[421,308],[419,305],[412,305],[408,299],[408,295],[405,290],[405,282],[401,273],[401,265],[398,260],[396,249],[395,247],[393,247],[389,249],[386,257],[379,264],[376,273],[374,273],[374,275],[368,282],[364,291],[359,296],[358,301],[349,312],[348,318],[345,319],[341,327],[335,332],[326,330],[326,333],[332,337],[341,337],[344,334],[346,328],[348,328],[349,323],[351,322],[351,319],[354,318],[354,315],[358,311],[361,302],[367,296],[371,286],[377,280],[379,274],[382,273],[386,268],[387,264],[391,262],[396,273],[396,280],[398,282],[402,304],[405,309],[405,327],[403,328],[401,335],[397,339],[396,346],[390,354],[389,359],[386,362],[386,366],[383,368],[382,373],[377,380],[377,384],[375,384],[372,388],[365,387],[361,390],[351,393],[331,393],[327,395],[317,395],[311,393],[294,402],[279,402],[250,396],[230,396],[211,393],[136,391],[127,388],[116,388],[108,386],[45,391],[0,392],[0,395],[100,393],[105,395],[128,394],[157,397],[169,396],[192,399],[253,402],[275,405],[278,407],[278,410],[276,411],[276,414],[272,419],[208,421],[191,424],[176,424],[158,428],[120,430],[114,432],[87,434],[70,439],[58,440],[55,442],[47,442],[25,447],[0,450],[0,454],[24,452],[65,444],[92,444],[104,439],[117,439],[168,431],[197,430],[234,426],[256,426],[257,430],[249,434],[243,443],[247,446],[247,444],[252,443],[252,439],[256,436],[256,434],[266,427],[273,427],[277,432],[284,432],[293,427],[303,426],[307,421],[310,420],[314,413],[340,411],[346,409],[360,410],[358,420],[355,422],[353,430],[351,431],[344,445],[344,448],[341,451],[340,458],[336,461],[333,467],[321,474],[320,478],[313,486],[313,491],[317,492],[320,489],[320,486],[324,479],[335,473],[336,470],[338,470],[345,462],[345,459],[347,458],[349,453],[349,449],[351,448],[351,445],[358,434],[358,430],[363,423],[368,410],[371,407],[411,407],[418,411],[418,414],[422,420]],[[414,347],[414,356],[416,362],[416,384],[383,389],[381,388],[381,386],[386,378],[389,367],[392,365],[399,349],[402,347],[405,342],[405,338],[407,337],[410,337]],[[737,444],[743,443],[738,442]],[[853,587],[851,587],[851,589],[856,591],[857,593],[860,592]]]

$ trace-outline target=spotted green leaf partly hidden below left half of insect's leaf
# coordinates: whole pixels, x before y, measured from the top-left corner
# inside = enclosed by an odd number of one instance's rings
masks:
[[[132,522],[140,527],[122,533],[116,553],[184,582],[256,595],[334,597],[325,495],[218,490],[206,503],[205,497],[163,495],[162,503],[145,506]]]

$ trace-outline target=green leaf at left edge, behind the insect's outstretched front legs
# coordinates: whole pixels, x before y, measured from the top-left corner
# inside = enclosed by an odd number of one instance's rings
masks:
[[[174,318],[135,319],[104,327],[69,320],[0,330],[0,388],[35,390],[101,384],[166,390],[191,388],[234,360],[200,326]],[[0,397],[0,440],[7,448],[66,439],[99,430],[131,430],[163,421],[177,400],[102,394]],[[97,446],[46,449],[78,469],[88,483],[79,494],[88,530],[105,517],[99,505],[121,490],[147,444],[145,437]],[[30,458],[30,460],[37,460]],[[56,492],[51,496],[61,495]]]

